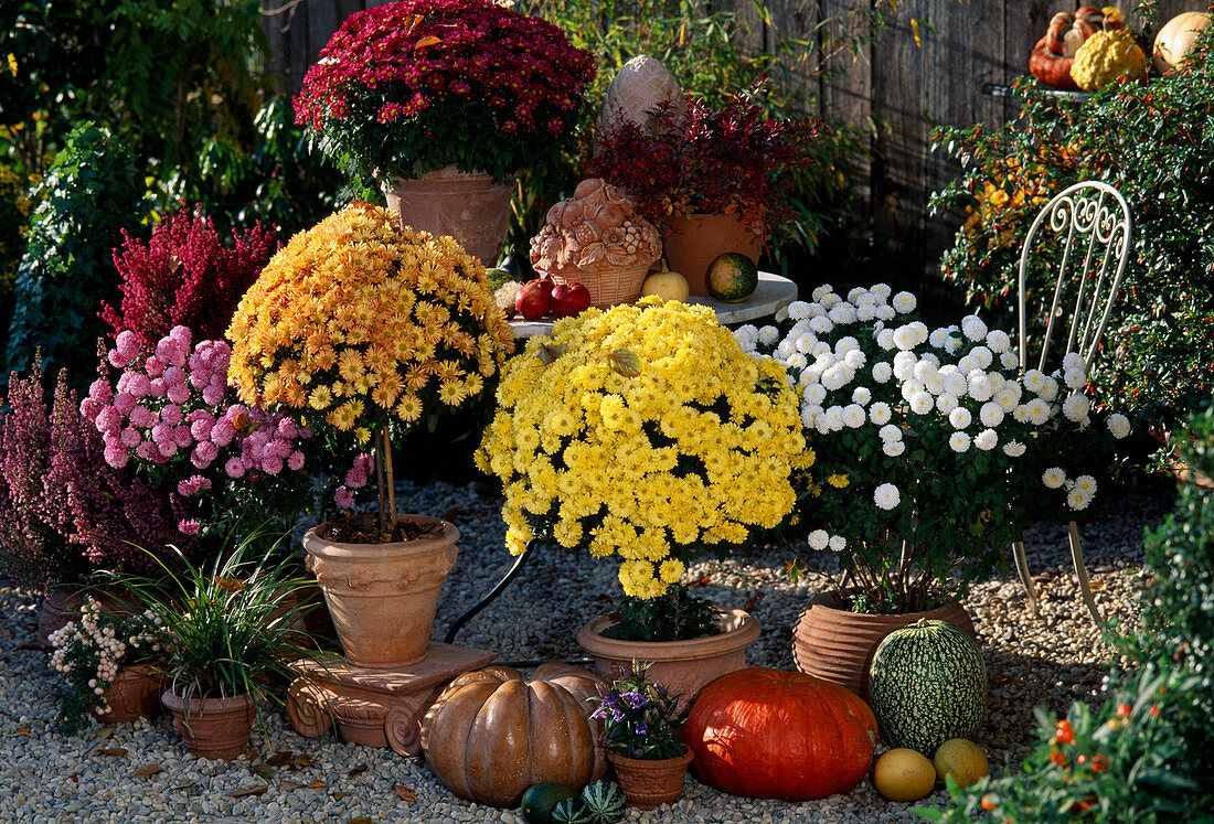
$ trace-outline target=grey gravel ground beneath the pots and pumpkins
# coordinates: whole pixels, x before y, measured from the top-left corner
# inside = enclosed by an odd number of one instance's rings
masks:
[[[461,530],[460,558],[448,579],[435,626],[442,638],[450,621],[506,570],[499,502],[477,484],[431,484],[402,489],[402,510],[446,513]],[[1170,510],[1165,487],[1121,491],[1082,525],[1097,603],[1106,614],[1133,621],[1142,528]],[[1113,498],[1113,496],[1111,496]],[[1015,763],[1032,740],[1032,707],[1065,707],[1072,699],[1100,700],[1112,650],[1077,596],[1061,527],[1034,529],[1029,563],[1038,573],[1040,615],[1029,613],[1014,573],[982,584],[966,601],[982,636],[991,700],[980,743],[994,772]],[[810,572],[793,583],[784,564],[798,551]],[[692,579],[724,606],[747,607],[764,627],[749,650],[751,664],[792,669],[792,625],[809,596],[827,586],[834,563],[806,547],[766,547],[751,557],[700,563]],[[545,550],[523,576],[469,624],[459,643],[499,652],[503,661],[578,658],[577,629],[611,604],[614,574],[589,556]],[[34,649],[36,602],[0,589],[0,822],[521,822],[511,811],[456,799],[420,761],[390,750],[346,745],[330,735],[296,735],[284,715],[265,712],[254,733],[256,756],[236,762],[199,761],[186,754],[164,717],[153,723],[95,726],[66,738],[53,728],[58,682],[46,653]],[[278,769],[266,780],[254,772],[265,758],[289,751],[304,766]],[[141,767],[159,767],[136,775]],[[265,768],[262,767],[262,772]],[[323,782],[310,789],[314,782]],[[395,790],[408,788],[416,801]],[[240,796],[240,790],[263,789]],[[238,797],[233,797],[237,794]],[[807,803],[727,796],[688,779],[683,799],[654,812],[629,811],[631,822],[903,822],[919,820],[914,806],[940,803],[943,791],[917,805],[885,801],[864,780],[851,792]]]

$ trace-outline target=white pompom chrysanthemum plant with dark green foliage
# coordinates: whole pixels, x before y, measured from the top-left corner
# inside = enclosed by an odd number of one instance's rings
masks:
[[[810,547],[840,552],[874,612],[964,595],[1028,519],[1085,510],[1095,477],[1070,464],[1129,433],[1123,415],[1097,425],[1079,356],[1021,377],[1006,333],[976,316],[929,330],[915,306],[885,284],[823,285],[776,325],[734,333],[795,381],[816,454]]]

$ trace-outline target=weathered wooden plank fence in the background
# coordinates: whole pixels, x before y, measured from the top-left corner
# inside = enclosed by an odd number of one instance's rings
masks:
[[[1107,0],[1106,0],[1107,1]],[[866,34],[857,2],[890,0],[767,0],[771,27],[753,0],[716,0],[749,24],[749,45],[772,50],[785,38],[821,42],[830,21],[846,21]],[[262,0],[276,70],[297,90],[307,67],[346,16],[380,0]],[[895,13],[872,34],[858,56],[838,55],[832,75],[804,76],[815,114],[862,130],[868,152],[858,170],[857,215],[861,251],[880,250],[879,265],[894,261],[900,280],[940,294],[936,263],[961,215],[929,216],[930,194],[957,176],[959,166],[931,152],[935,124],[999,126],[1015,118],[1012,101],[983,93],[986,84],[1010,85],[1027,72],[1033,44],[1057,11],[1074,0],[897,0]],[[1128,0],[1123,5],[1131,5]],[[1157,21],[1204,7],[1203,0],[1159,0]]]

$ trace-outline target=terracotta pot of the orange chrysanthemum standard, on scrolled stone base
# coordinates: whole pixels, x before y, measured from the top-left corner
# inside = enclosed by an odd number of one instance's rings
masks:
[[[437,538],[396,544],[336,544],[310,529],[304,536],[307,568],[324,592],[346,660],[354,666],[393,669],[416,664],[438,609],[447,573],[455,566],[459,530],[446,521]]]

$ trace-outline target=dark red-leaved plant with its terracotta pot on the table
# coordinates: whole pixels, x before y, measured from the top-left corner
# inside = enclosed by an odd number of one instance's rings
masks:
[[[759,90],[721,108],[687,97],[664,103],[647,124],[624,119],[596,138],[588,175],[622,187],[636,210],[663,229],[666,262],[708,295],[709,263],[725,252],[758,262],[765,240],[793,216],[793,175],[813,163],[817,120],[772,119]]]

